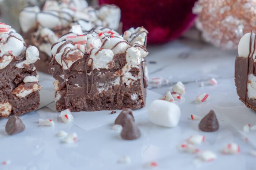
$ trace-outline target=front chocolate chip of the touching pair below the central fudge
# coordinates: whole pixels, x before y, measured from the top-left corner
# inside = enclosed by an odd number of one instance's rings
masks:
[[[134,140],[140,137],[140,130],[132,119],[125,119],[121,137],[125,140]]]

